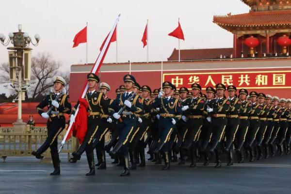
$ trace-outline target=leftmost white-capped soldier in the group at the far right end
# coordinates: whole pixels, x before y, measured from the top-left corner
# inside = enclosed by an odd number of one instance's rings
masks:
[[[269,144],[270,144],[270,148],[271,148],[271,157],[274,157],[275,153],[276,153],[275,140],[276,140],[277,134],[279,132],[279,129],[281,127],[280,117],[281,117],[281,114],[282,114],[282,110],[279,107],[279,98],[277,96],[274,96],[272,98],[272,102],[273,102],[273,106],[275,108],[275,111],[273,113],[273,115],[274,115],[274,119],[273,119],[274,129],[273,129],[273,132],[271,134],[271,139],[270,139],[270,143]]]

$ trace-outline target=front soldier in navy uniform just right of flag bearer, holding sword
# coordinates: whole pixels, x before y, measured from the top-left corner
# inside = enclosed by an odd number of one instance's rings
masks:
[[[124,163],[124,172],[120,176],[129,176],[129,136],[136,127],[137,117],[135,114],[143,113],[143,106],[139,96],[133,93],[133,86],[136,83],[132,75],[125,75],[124,78],[126,92],[118,95],[109,107],[110,115],[117,119],[119,139],[110,155],[114,156],[117,152],[121,155]],[[124,109],[122,112],[120,110]]]

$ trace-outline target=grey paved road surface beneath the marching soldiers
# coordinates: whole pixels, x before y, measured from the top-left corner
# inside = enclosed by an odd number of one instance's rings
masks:
[[[196,168],[147,163],[119,177],[123,171],[108,159],[106,170],[86,177],[86,158],[76,164],[61,157],[61,175],[49,176],[52,164],[40,164],[33,157],[10,157],[0,163],[0,194],[291,194],[291,155],[234,166]]]

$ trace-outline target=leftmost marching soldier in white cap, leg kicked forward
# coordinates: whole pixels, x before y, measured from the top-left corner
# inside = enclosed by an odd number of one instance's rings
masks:
[[[32,151],[37,159],[41,158],[41,154],[50,148],[50,154],[54,171],[50,175],[60,175],[60,159],[58,153],[58,135],[65,128],[65,116],[64,114],[71,113],[71,104],[69,96],[62,93],[65,86],[65,79],[61,76],[57,76],[54,80],[54,94],[47,95],[45,99],[36,106],[38,114],[43,118],[48,119],[47,129],[48,137],[46,141],[36,151]],[[48,106],[50,112],[44,112],[43,108]]]

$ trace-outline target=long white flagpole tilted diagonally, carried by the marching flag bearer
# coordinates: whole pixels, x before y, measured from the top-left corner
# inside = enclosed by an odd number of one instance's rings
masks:
[[[115,23],[114,23],[114,25],[113,25],[113,27],[112,27],[112,29],[111,29],[109,35],[108,35],[108,38],[106,39],[105,44],[104,44],[104,46],[103,46],[103,48],[102,48],[102,50],[101,50],[101,52],[100,52],[100,54],[99,54],[99,56],[98,56],[96,62],[95,62],[95,64],[94,64],[92,70],[91,70],[91,73],[96,73],[96,71],[97,71],[99,65],[101,65],[100,62],[101,62],[101,60],[102,60],[102,58],[103,58],[103,55],[104,55],[104,53],[105,53],[105,50],[107,49],[107,47],[108,47],[108,45],[109,45],[110,39],[111,39],[112,34],[113,34],[113,30],[115,29],[115,27],[116,27],[116,25],[117,25],[117,23],[118,23],[118,21],[119,21],[119,18],[120,18],[120,14],[118,15],[118,17],[117,17],[116,20],[115,20]],[[82,91],[81,98],[84,98],[84,96],[85,96],[87,90],[88,90],[88,85],[86,85],[85,88],[84,88],[84,90]],[[76,112],[75,112],[75,117],[77,116],[78,112],[79,112],[79,106],[77,107],[77,110],[76,110]],[[63,141],[62,141],[62,143],[61,143],[61,145],[60,145],[60,148],[59,148],[59,150],[58,150],[59,153],[61,152],[62,148],[64,147],[65,140],[66,140],[68,134],[69,134],[70,131],[71,131],[72,125],[73,125],[73,122],[70,122],[69,127],[68,127],[68,129],[67,129],[67,131],[66,131],[66,133],[65,133],[64,139],[63,139]]]

